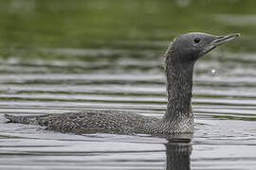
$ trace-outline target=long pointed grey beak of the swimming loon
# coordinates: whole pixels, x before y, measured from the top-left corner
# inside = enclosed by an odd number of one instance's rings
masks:
[[[231,40],[234,40],[235,38],[239,37],[240,34],[239,33],[235,33],[235,34],[229,34],[226,36],[216,36],[211,42],[210,44],[204,49],[204,53],[208,53],[210,52],[210,50],[214,49],[215,47],[222,45],[226,42],[229,42]]]

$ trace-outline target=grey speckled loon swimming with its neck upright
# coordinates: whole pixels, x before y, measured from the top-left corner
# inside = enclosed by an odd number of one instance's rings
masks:
[[[215,36],[190,32],[174,38],[165,54],[167,110],[161,119],[118,110],[82,110],[61,114],[14,116],[9,123],[36,124],[48,130],[87,133],[149,134],[152,136],[192,134],[192,72],[197,59],[240,34]]]

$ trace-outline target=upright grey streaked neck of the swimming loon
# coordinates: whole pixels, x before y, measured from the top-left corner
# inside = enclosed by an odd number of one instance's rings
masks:
[[[166,53],[166,78],[167,78],[167,111],[163,122],[192,119],[192,71],[194,63],[174,58],[172,44]]]

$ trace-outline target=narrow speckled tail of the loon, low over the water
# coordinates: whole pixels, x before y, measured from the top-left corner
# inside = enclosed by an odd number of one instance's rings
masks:
[[[28,116],[15,116],[5,114],[5,117],[9,120],[8,123],[19,123],[19,124],[38,124],[41,117],[46,115],[28,115]]]

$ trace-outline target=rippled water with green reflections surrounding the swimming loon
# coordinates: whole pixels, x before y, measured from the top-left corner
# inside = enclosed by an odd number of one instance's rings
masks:
[[[254,1],[0,4],[0,169],[174,169],[175,162],[183,169],[256,168]],[[242,34],[195,66],[191,144],[5,123],[3,113],[89,109],[160,118],[162,55],[187,31]]]

